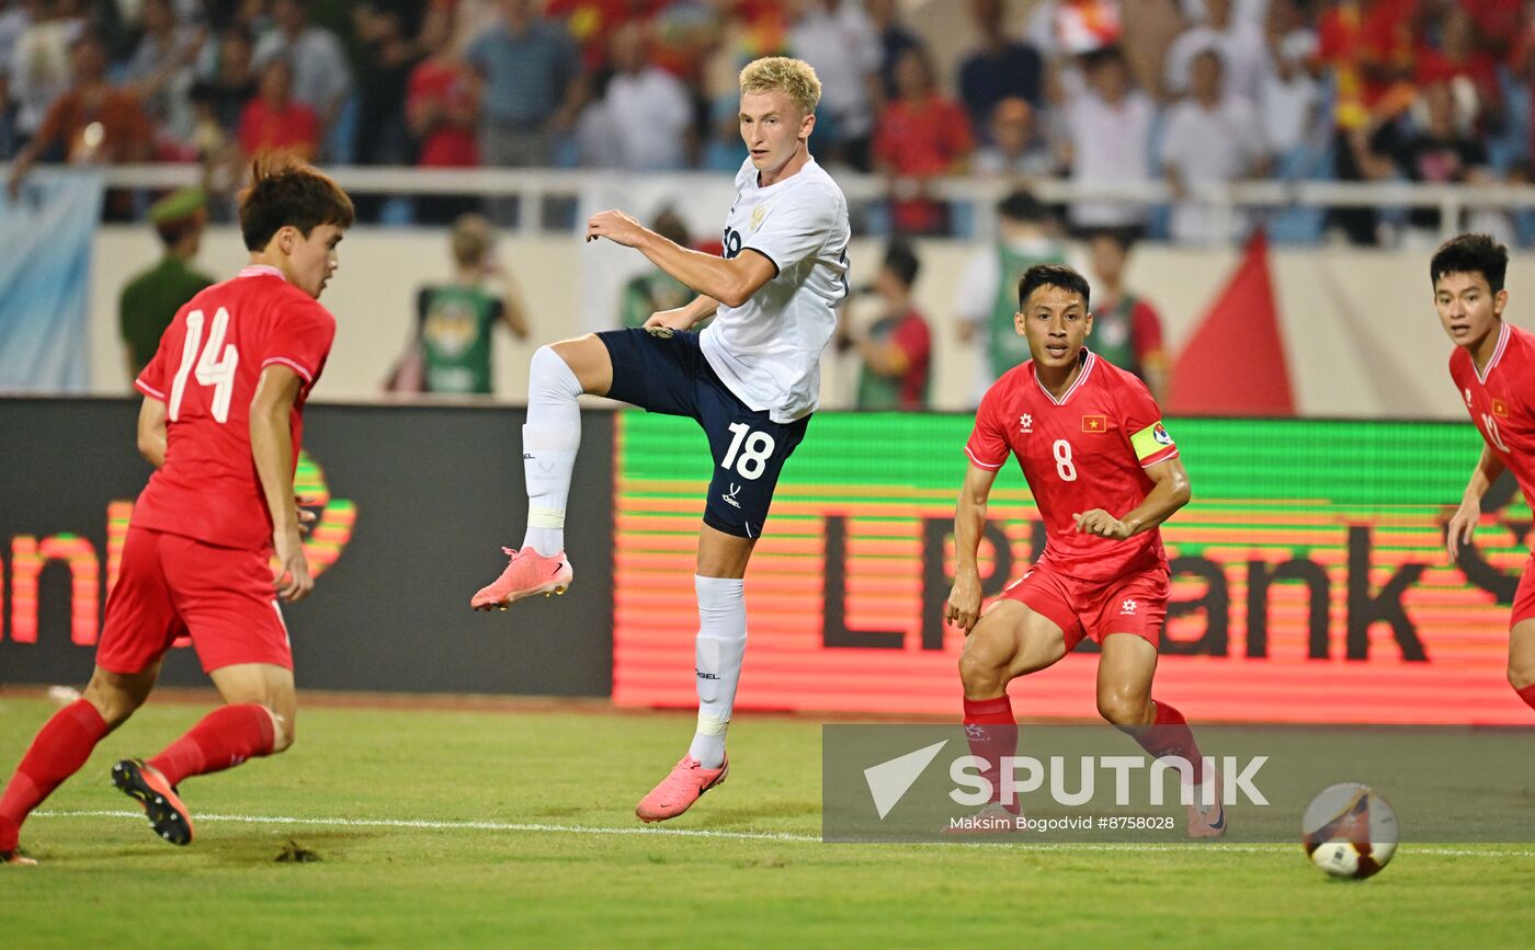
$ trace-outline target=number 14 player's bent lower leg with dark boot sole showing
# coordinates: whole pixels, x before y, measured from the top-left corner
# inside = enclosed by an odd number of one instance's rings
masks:
[[[149,761],[124,758],[112,781],[144,806],[150,827],[172,844],[192,841],[192,815],[177,792],[184,780],[275,755],[293,744],[298,695],[293,671],[273,663],[236,663],[209,672],[224,706],[203,717]]]

